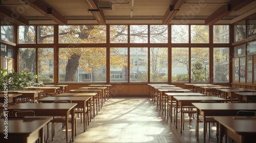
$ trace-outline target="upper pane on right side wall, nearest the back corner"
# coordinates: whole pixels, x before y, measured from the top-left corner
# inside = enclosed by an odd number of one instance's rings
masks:
[[[242,22],[238,23],[237,25],[234,25],[234,42],[246,39],[245,29],[246,29],[245,21],[242,21]]]

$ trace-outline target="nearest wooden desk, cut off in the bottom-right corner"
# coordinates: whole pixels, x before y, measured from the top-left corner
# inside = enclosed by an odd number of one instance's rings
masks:
[[[239,143],[256,140],[255,116],[214,116],[214,119],[220,123],[220,143],[222,143],[224,134]]]

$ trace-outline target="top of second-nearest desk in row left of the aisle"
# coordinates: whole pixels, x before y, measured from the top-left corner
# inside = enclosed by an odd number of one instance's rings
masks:
[[[8,110],[70,110],[76,105],[76,103],[19,103],[8,107]]]

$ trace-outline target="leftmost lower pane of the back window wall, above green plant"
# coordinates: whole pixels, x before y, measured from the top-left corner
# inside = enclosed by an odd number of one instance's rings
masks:
[[[19,48],[19,71],[35,74],[35,48]]]

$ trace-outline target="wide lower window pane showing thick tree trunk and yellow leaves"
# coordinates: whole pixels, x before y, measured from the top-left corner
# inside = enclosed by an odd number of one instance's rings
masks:
[[[60,48],[59,82],[106,82],[105,47]]]

